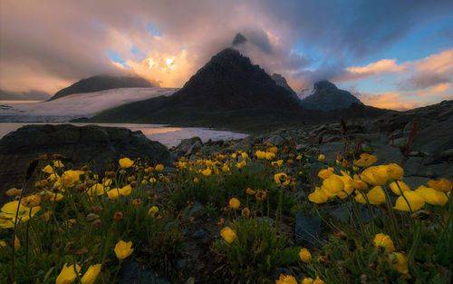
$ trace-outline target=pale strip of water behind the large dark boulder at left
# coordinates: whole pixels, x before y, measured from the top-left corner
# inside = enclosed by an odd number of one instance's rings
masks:
[[[27,124],[46,124],[44,122],[0,122],[0,138],[5,136],[9,132],[14,132],[18,128]],[[63,124],[63,123],[47,123],[47,124]],[[70,123],[73,125],[88,125],[97,124],[101,126],[110,127],[125,127],[131,131],[140,130],[150,140],[161,142],[167,147],[177,146],[183,139],[192,138],[198,136],[203,142],[212,139],[217,140],[229,140],[229,139],[241,139],[246,138],[247,134],[227,131],[217,131],[207,128],[196,128],[196,127],[169,127],[159,124],[131,124],[131,123]],[[30,137],[33,139],[33,137]]]

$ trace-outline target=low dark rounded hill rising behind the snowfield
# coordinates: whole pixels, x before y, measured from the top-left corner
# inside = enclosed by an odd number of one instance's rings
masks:
[[[153,85],[149,81],[133,76],[96,75],[72,83],[53,95],[50,99],[56,100],[72,93],[92,93],[117,88],[149,88]]]

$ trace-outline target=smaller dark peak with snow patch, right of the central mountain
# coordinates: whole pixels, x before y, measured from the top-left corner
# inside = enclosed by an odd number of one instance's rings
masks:
[[[351,93],[338,89],[327,80],[316,82],[311,90],[304,91],[301,100],[306,109],[333,111],[346,109],[352,103],[363,104]]]

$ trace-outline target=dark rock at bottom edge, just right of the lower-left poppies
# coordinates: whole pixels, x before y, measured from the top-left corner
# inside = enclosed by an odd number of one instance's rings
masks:
[[[122,264],[119,275],[120,284],[170,284],[168,279],[159,277],[153,270],[135,260]]]

